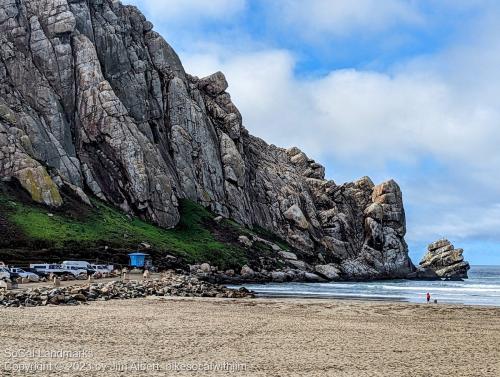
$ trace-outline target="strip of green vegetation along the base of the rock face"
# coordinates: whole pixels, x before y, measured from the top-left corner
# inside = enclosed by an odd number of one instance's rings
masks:
[[[92,200],[94,208],[81,214],[75,211],[50,210],[16,200],[0,192],[0,207],[9,224],[23,238],[51,248],[68,245],[82,248],[107,245],[133,250],[141,242],[153,249],[182,257],[188,263],[210,262],[220,268],[235,268],[246,263],[244,249],[235,243],[221,242],[211,229],[213,214],[188,200],[180,203],[181,220],[175,229],[163,229],[119,210]]]

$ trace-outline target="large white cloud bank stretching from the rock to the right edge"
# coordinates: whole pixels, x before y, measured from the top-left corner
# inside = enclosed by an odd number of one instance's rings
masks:
[[[484,82],[457,89],[457,83],[414,65],[393,75],[337,70],[299,80],[293,56],[281,50],[187,55],[184,63],[201,76],[225,72],[229,92],[252,132],[278,144],[299,144],[315,156],[373,163],[412,161],[426,154],[467,165],[480,165],[484,158],[499,163],[500,133],[494,132],[500,124],[498,97],[464,94]],[[500,87],[497,91],[500,95]]]

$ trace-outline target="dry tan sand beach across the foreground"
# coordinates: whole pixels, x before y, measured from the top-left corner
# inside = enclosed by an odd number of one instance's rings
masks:
[[[0,324],[0,376],[500,376],[500,308],[148,298]]]

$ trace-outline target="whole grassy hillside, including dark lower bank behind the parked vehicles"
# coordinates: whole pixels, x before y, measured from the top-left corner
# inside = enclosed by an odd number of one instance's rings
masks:
[[[31,252],[36,250],[55,256],[76,253],[83,257],[87,253],[91,258],[105,246],[106,250],[117,250],[123,260],[126,252],[147,242],[153,257],[172,254],[187,263],[210,262],[220,268],[239,268],[247,263],[246,251],[237,242],[246,230],[229,221],[216,223],[214,214],[188,200],[180,203],[178,226],[167,230],[97,199],[92,199],[90,208],[69,193],[63,208],[49,209],[9,186],[2,184],[0,189],[0,231],[6,235],[0,241],[0,260],[16,259],[16,250],[32,256],[37,255]]]

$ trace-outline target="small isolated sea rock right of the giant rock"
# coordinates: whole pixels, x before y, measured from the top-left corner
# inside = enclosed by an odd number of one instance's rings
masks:
[[[434,271],[444,279],[467,279],[470,266],[464,261],[463,252],[463,249],[455,249],[446,239],[438,240],[427,247],[420,268]]]

